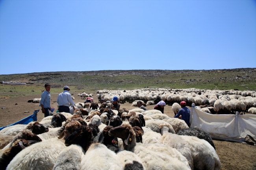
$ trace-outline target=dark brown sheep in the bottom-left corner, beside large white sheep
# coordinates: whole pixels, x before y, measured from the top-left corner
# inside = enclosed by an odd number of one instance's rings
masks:
[[[39,141],[26,141],[25,139],[19,139],[15,141],[11,147],[4,150],[0,157],[0,170],[5,170],[10,161],[15,157],[22,149],[37,143]]]

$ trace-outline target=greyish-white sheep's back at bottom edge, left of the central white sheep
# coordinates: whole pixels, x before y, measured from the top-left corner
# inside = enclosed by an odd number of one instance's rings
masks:
[[[85,152],[81,146],[72,144],[60,153],[53,170],[79,170]]]

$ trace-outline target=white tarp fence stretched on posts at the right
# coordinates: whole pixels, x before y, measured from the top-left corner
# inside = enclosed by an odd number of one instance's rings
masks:
[[[246,135],[256,139],[256,115],[212,115],[192,106],[189,122],[191,128],[201,128],[213,139],[244,142]]]

